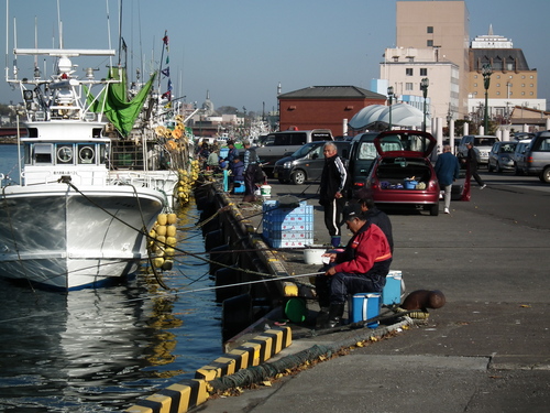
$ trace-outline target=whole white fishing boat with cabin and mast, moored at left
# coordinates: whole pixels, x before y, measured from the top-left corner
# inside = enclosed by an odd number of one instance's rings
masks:
[[[166,197],[111,170],[102,96],[118,80],[96,79],[94,68],[79,78],[72,62],[114,54],[14,50],[53,57],[56,73],[42,77],[35,66],[32,77],[14,70],[8,79],[21,89],[28,134],[20,138],[20,183],[0,192],[1,276],[69,291],[120,280],[147,259],[146,236]]]

